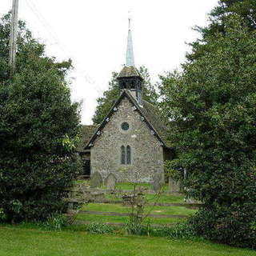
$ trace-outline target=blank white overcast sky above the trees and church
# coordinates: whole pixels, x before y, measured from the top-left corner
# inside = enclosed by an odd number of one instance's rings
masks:
[[[82,103],[82,123],[90,124],[96,98],[108,87],[112,71],[125,63],[128,11],[133,22],[134,56],[157,81],[158,74],[178,68],[198,38],[218,0],[19,0],[19,18],[47,54],[74,62],[72,98]],[[0,0],[0,15],[12,0]]]

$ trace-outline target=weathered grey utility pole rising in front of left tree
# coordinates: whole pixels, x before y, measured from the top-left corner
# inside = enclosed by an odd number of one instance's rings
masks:
[[[12,74],[14,73],[14,70],[15,70],[17,36],[18,36],[18,0],[13,0],[13,7],[11,11],[10,59],[9,59],[9,65],[10,65]]]

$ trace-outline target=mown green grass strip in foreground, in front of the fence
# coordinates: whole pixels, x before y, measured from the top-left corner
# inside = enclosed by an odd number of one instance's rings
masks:
[[[256,256],[210,242],[0,226],[1,256]]]

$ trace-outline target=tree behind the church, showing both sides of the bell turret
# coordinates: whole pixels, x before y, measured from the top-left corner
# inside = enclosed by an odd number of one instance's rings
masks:
[[[150,74],[148,73],[148,70],[145,66],[140,66],[138,71],[144,79],[144,83],[142,85],[143,99],[156,105],[158,101],[158,94],[150,81]],[[93,117],[94,124],[100,124],[103,121],[103,119],[106,117],[106,114],[108,114],[110,111],[111,106],[113,106],[114,102],[118,99],[118,96],[121,93],[121,90],[118,86],[117,77],[118,73],[113,72],[112,78],[109,82],[109,89],[104,92],[102,97],[97,99],[98,106],[96,107],[96,111]]]

